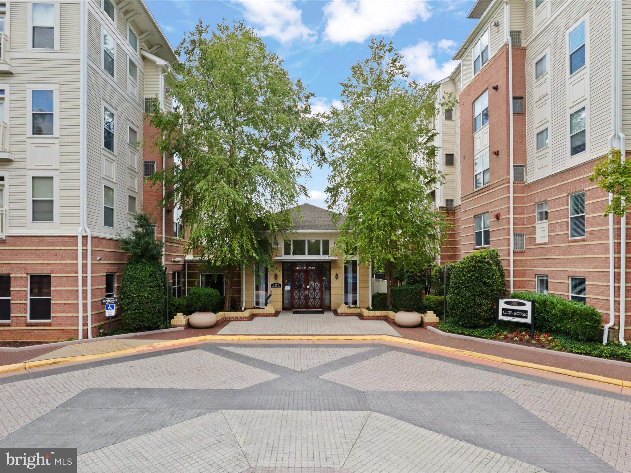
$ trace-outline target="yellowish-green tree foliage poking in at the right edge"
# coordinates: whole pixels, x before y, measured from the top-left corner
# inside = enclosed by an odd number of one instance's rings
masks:
[[[613,194],[611,203],[604,209],[605,215],[614,214],[622,218],[627,214],[631,205],[631,160],[622,161],[620,149],[611,148],[604,159],[596,163],[589,180]]]

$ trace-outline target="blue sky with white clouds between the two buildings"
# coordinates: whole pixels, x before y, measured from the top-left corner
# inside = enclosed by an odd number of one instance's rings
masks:
[[[452,54],[477,20],[466,18],[474,0],[207,1],[146,0],[173,47],[199,18],[213,28],[222,18],[245,20],[283,58],[292,79],[316,98],[314,109],[339,100],[350,65],[368,54],[370,37],[384,37],[406,56],[413,78],[439,80],[456,66]],[[313,168],[309,201],[324,206],[329,170]],[[304,201],[304,200],[303,200]]]

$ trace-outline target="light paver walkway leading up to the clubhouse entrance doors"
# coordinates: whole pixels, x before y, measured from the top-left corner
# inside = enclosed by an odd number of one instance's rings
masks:
[[[256,317],[247,322],[230,322],[218,335],[391,335],[400,337],[384,320],[360,320],[324,314],[293,314],[285,310],[278,317]]]

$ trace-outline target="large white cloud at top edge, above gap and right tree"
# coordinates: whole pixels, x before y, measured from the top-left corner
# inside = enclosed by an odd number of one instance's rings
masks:
[[[372,35],[392,35],[405,23],[432,13],[425,0],[333,0],[324,8],[324,38],[338,44],[362,43]]]

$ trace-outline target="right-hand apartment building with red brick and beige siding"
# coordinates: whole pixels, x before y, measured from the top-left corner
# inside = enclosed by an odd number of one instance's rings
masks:
[[[608,195],[589,176],[631,132],[631,2],[478,0],[469,18],[440,81],[458,100],[437,124],[437,201],[454,223],[442,261],[497,248],[512,291],[594,305],[617,338],[631,315],[628,226],[603,216]]]

